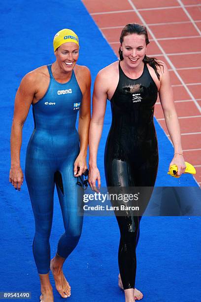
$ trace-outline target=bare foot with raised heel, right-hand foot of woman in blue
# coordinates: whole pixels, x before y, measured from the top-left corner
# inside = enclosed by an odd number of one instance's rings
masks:
[[[56,254],[56,256],[50,262],[50,269],[52,271],[55,286],[62,298],[70,297],[70,286],[65,278],[62,267],[65,259]]]

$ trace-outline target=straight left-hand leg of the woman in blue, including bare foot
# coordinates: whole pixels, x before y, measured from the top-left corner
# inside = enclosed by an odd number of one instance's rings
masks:
[[[39,159],[38,159],[39,160]],[[26,182],[32,202],[35,220],[33,257],[41,283],[40,300],[53,302],[52,286],[49,280],[50,244],[49,237],[53,217],[54,172],[45,162],[26,161]]]

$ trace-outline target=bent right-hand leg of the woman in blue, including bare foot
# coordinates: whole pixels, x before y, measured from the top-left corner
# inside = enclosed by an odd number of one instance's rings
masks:
[[[68,163],[62,167],[61,172],[55,174],[65,233],[60,237],[57,254],[51,261],[51,270],[56,288],[63,298],[70,296],[70,286],[63,273],[63,264],[76,247],[83,224],[83,189],[76,185],[77,178],[73,176],[72,167]],[[71,171],[71,175],[67,171]]]

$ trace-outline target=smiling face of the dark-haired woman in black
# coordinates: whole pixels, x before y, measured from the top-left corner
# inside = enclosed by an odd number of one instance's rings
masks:
[[[146,52],[145,35],[127,35],[121,45],[124,63],[128,67],[137,67],[142,63]]]

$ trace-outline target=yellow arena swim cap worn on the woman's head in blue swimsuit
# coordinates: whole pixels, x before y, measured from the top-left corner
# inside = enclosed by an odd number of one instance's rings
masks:
[[[77,35],[65,28],[61,31],[59,31],[55,36],[54,36],[54,40],[53,40],[53,46],[54,46],[54,51],[61,46],[62,44],[66,43],[66,42],[74,42],[79,46],[79,39],[77,37]]]

